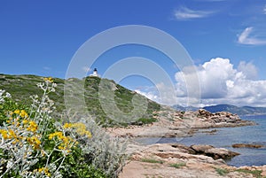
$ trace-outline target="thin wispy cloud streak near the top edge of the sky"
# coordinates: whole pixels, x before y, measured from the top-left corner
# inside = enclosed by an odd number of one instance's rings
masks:
[[[186,19],[206,18],[212,13],[213,12],[207,12],[207,11],[194,11],[186,7],[181,7],[175,11],[174,15],[176,19],[186,20]]]

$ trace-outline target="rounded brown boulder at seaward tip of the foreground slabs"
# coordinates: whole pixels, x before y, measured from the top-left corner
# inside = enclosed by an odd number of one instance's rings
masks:
[[[204,154],[214,159],[231,159],[232,157],[239,155],[238,152],[229,151],[224,148],[207,149],[206,151],[204,151]]]

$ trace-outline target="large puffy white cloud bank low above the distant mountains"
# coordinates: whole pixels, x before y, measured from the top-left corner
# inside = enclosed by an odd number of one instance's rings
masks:
[[[176,73],[176,91],[171,91],[164,83],[159,83],[153,89],[139,89],[137,92],[168,105],[186,106],[194,103],[193,106],[266,106],[266,81],[256,80],[257,68],[251,62],[241,61],[239,66],[235,67],[229,58],[212,58],[196,68],[197,72],[193,71],[192,67],[186,67],[182,72]],[[200,89],[197,80],[200,81]],[[200,98],[197,98],[199,92]],[[200,103],[197,103],[199,99]]]

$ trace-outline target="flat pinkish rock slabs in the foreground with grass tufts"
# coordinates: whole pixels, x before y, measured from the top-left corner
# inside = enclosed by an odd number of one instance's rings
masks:
[[[224,159],[238,155],[211,145],[187,147],[176,143],[129,144],[131,157],[120,178],[251,178],[266,177],[266,166],[228,166]]]

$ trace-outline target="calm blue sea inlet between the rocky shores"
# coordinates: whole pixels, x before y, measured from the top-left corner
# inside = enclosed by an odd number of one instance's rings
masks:
[[[253,120],[257,125],[237,128],[200,129],[195,135],[184,138],[142,138],[140,143],[183,143],[210,144],[217,148],[226,148],[240,155],[226,160],[231,166],[266,165],[266,115],[241,116],[242,120]],[[214,130],[214,133],[209,131]],[[234,143],[252,143],[265,145],[264,148],[232,148]]]

